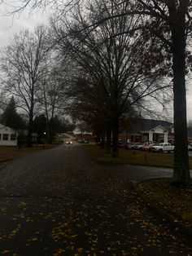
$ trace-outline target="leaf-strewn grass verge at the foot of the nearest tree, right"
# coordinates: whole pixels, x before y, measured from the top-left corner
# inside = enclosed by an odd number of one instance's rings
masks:
[[[174,219],[192,227],[192,185],[175,188],[171,179],[151,179],[138,183],[137,190]],[[192,181],[192,180],[191,180]]]

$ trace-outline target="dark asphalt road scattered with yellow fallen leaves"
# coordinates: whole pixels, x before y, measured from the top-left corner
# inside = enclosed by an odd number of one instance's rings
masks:
[[[95,164],[79,144],[9,163],[0,171],[0,255],[192,255],[190,239],[132,191],[139,168]]]

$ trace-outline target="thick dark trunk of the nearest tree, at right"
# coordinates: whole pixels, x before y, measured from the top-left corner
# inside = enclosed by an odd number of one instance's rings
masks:
[[[173,183],[181,186],[190,183],[185,98],[185,15],[183,19],[183,25],[178,26],[177,29],[172,29],[175,136]]]

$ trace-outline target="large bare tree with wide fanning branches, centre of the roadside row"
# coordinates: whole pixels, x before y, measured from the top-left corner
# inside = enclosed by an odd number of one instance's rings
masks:
[[[84,70],[85,83],[75,87],[73,95],[79,97],[83,93],[84,104],[86,102],[89,108],[105,113],[111,122],[113,157],[118,154],[120,116],[133,105],[141,106],[146,96],[157,99],[157,91],[169,86],[162,80],[159,82],[164,61],[148,64],[146,53],[151,50],[153,42],[151,44],[148,38],[145,41],[141,32],[133,33],[142,22],[140,16],[120,15],[127,11],[129,5],[124,2],[118,7],[116,2],[119,1],[96,1],[85,14],[81,7],[76,7],[70,24],[64,24],[64,28],[63,21],[53,24],[60,50],[68,49]],[[98,24],[96,29],[86,29],[88,24],[93,24],[98,17],[103,20],[106,15],[116,15],[116,19],[108,19]]]

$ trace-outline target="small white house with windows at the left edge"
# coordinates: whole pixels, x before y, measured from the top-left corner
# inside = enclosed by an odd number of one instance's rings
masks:
[[[0,146],[16,146],[17,134],[15,130],[0,124]]]

